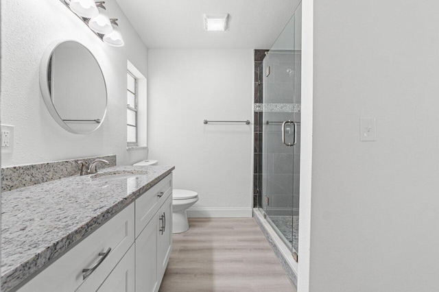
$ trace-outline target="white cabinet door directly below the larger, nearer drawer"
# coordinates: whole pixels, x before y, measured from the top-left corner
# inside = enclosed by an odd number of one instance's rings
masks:
[[[98,292],[134,292],[134,245],[123,256]]]

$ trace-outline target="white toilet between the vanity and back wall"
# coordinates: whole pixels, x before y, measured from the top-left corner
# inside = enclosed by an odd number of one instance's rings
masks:
[[[157,165],[157,160],[143,160],[134,163],[134,167],[143,167],[146,165]],[[198,193],[189,190],[172,190],[172,233],[181,233],[189,230],[187,221],[187,208],[191,207],[198,201]]]

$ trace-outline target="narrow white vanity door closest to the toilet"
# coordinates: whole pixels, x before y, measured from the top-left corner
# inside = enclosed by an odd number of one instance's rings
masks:
[[[169,196],[157,212],[159,232],[157,240],[158,282],[161,283],[172,249],[172,196]],[[160,220],[160,218],[163,218]]]

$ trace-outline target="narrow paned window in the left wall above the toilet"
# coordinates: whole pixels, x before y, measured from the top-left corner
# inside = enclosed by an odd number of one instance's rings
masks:
[[[127,71],[127,108],[126,108],[126,142],[128,147],[137,143],[137,78]]]

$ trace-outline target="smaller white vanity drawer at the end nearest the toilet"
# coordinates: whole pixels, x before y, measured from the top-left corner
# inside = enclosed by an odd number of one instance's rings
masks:
[[[172,193],[172,173],[136,199],[136,238]]]

